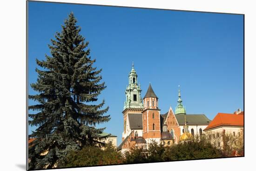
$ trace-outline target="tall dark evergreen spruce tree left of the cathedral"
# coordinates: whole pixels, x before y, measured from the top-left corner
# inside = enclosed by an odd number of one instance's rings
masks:
[[[29,106],[29,110],[37,111],[29,114],[29,125],[37,126],[29,135],[35,138],[29,144],[30,170],[55,167],[68,152],[100,143],[104,128],[95,125],[110,120],[104,115],[108,107],[101,109],[104,100],[93,103],[106,86],[100,83],[101,70],[93,67],[95,59],[89,56],[88,41],[79,34],[81,27],[76,22],[70,13],[62,31],[56,32],[48,45],[51,57],[36,59],[42,70],[36,69],[38,79],[31,84],[38,94],[29,95],[38,102]]]

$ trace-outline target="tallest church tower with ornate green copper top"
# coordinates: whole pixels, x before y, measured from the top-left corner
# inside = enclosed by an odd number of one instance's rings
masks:
[[[129,123],[129,121],[134,122],[134,118],[141,118],[141,112],[143,110],[141,85],[138,85],[138,75],[134,69],[134,63],[132,65],[132,70],[128,75],[128,83],[129,84],[125,90],[125,102],[122,112],[124,120],[122,141],[132,132],[133,128],[130,127],[130,124],[132,123]],[[132,116],[130,114],[132,114]],[[128,118],[129,115],[130,118]],[[142,130],[142,125],[140,126],[140,129]],[[142,131],[139,134],[142,136]]]

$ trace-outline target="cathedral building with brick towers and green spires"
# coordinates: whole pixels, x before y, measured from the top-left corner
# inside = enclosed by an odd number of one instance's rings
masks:
[[[158,97],[150,83],[142,99],[134,64],[128,82],[122,112],[124,130],[118,150],[126,152],[133,147],[147,149],[151,142],[171,146],[181,140],[193,139],[196,134],[202,135],[203,129],[209,125],[210,120],[204,114],[186,114],[180,89],[175,112],[170,107],[167,113],[161,114]]]

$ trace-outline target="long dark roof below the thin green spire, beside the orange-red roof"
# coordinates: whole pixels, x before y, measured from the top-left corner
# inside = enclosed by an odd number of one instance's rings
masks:
[[[211,121],[204,114],[175,114],[179,125],[185,125],[185,115],[187,125],[209,125]]]

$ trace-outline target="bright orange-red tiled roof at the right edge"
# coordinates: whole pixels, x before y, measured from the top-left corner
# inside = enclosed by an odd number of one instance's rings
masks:
[[[204,129],[209,130],[211,128],[220,126],[240,126],[243,127],[243,112],[240,114],[223,114],[218,113],[215,118],[209,123],[208,127]]]

